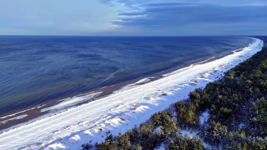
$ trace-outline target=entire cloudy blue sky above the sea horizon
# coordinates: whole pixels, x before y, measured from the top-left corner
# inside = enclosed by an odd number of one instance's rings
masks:
[[[0,35],[267,35],[267,0],[0,0]]]

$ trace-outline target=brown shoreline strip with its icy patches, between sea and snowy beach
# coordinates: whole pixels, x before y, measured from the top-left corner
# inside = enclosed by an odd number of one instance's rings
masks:
[[[248,38],[251,38],[251,37],[248,37]],[[252,38],[252,39],[254,39],[254,41],[250,45],[253,45],[256,42],[255,38]],[[250,45],[248,47],[250,47]],[[245,50],[248,47],[245,47],[242,50]],[[129,90],[131,88],[134,88],[137,85],[142,85],[142,84],[146,84],[146,83],[149,83],[149,82],[153,82],[153,81],[159,80],[161,78],[164,78],[164,77],[168,76],[169,74],[174,74],[175,72],[176,73],[177,72],[181,72],[181,71],[184,71],[185,69],[188,69],[188,68],[196,66],[196,65],[205,64],[205,63],[209,63],[209,62],[221,59],[221,58],[223,58],[225,56],[234,54],[235,51],[239,51],[239,50],[234,50],[234,51],[231,51],[230,53],[227,52],[227,53],[224,53],[224,55],[213,56],[213,57],[210,57],[210,58],[204,59],[204,60],[201,60],[201,59],[200,60],[191,60],[191,61],[188,62],[189,64],[186,63],[186,64],[183,64],[183,65],[178,66],[178,67],[173,67],[171,69],[167,69],[167,70],[164,70],[164,71],[161,71],[161,72],[158,72],[158,73],[154,73],[154,74],[152,74],[152,75],[150,75],[148,77],[145,77],[145,78],[137,78],[135,80],[127,81],[127,82],[124,82],[124,83],[118,83],[118,84],[111,85],[111,86],[100,87],[100,88],[97,88],[97,89],[94,89],[94,90],[90,90],[88,92],[81,93],[81,94],[78,94],[78,95],[75,95],[75,96],[72,96],[72,97],[68,97],[68,98],[64,98],[64,99],[60,99],[60,100],[52,100],[52,101],[49,101],[49,102],[46,102],[46,103],[38,104],[38,105],[33,106],[32,108],[29,108],[29,109],[26,109],[26,110],[21,110],[19,112],[8,114],[8,115],[6,115],[4,117],[0,117],[0,119],[1,119],[0,122],[5,121],[5,120],[10,120],[13,117],[18,117],[18,116],[21,116],[21,115],[28,115],[28,114],[30,114],[30,115],[25,117],[25,118],[23,118],[23,119],[11,120],[10,122],[7,122],[5,124],[1,124],[0,123],[0,131],[4,130],[4,129],[7,129],[7,128],[10,128],[14,124],[24,124],[24,122],[27,122],[27,121],[34,121],[34,120],[36,120],[37,117],[49,117],[50,115],[53,115],[53,114],[56,114],[56,113],[60,113],[61,111],[65,111],[66,109],[77,107],[79,105],[83,105],[83,104],[86,104],[86,103],[94,101],[94,100],[99,100],[99,99],[102,99],[102,98],[106,98],[106,97],[109,97],[109,96],[111,96],[111,95],[113,95],[114,93],[117,93],[117,92],[121,92],[121,91],[124,91],[124,90]],[[193,63],[193,61],[197,61],[197,63]],[[198,61],[200,61],[200,62],[198,62]],[[145,80],[145,79],[147,79],[147,82],[140,82],[140,81]],[[101,93],[100,94],[95,94],[95,93],[99,93],[99,92],[101,92]],[[92,97],[91,97],[91,95],[92,95]],[[88,96],[91,97],[91,98],[90,99],[86,98]],[[64,103],[66,101],[71,101],[71,100],[73,100],[75,98],[81,98],[81,99],[84,98],[84,100],[80,100],[80,101],[76,100],[76,103],[73,102],[72,105],[67,105],[66,107],[63,107],[62,109],[55,109],[52,112],[50,112],[52,110],[52,109],[50,109],[51,107],[55,108],[56,107],[55,105]],[[34,114],[34,115],[32,115],[32,114]]]

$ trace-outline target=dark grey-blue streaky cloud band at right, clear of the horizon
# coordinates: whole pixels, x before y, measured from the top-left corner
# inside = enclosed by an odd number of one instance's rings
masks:
[[[122,15],[145,17],[120,18],[114,21],[119,25],[166,25],[177,26],[192,23],[233,23],[233,22],[255,22],[266,18],[265,7],[225,7],[225,6],[165,6],[149,8],[143,13],[125,13]],[[255,11],[257,10],[257,11]],[[264,21],[264,20],[263,20]],[[174,23],[174,24],[173,24]],[[143,26],[146,27],[146,26]]]

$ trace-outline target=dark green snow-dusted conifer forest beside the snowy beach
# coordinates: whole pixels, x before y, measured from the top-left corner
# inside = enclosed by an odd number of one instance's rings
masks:
[[[267,47],[223,73],[126,133],[107,132],[104,141],[82,149],[267,150]],[[204,112],[209,115],[201,123]]]

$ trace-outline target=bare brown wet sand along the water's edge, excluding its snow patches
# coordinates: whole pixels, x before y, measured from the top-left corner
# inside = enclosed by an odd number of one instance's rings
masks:
[[[238,51],[242,51],[242,50],[243,49],[234,50],[234,52],[238,52]],[[93,100],[98,100],[100,98],[107,97],[110,94],[112,94],[114,91],[119,90],[121,87],[123,87],[125,85],[136,83],[141,79],[148,78],[148,79],[150,79],[149,82],[153,82],[155,80],[163,78],[163,75],[165,75],[167,73],[179,70],[179,69],[184,68],[184,67],[189,67],[191,65],[200,65],[200,64],[212,62],[212,61],[220,59],[220,58],[222,58],[224,56],[233,54],[234,52],[233,51],[226,51],[226,52],[219,53],[219,54],[217,54],[217,56],[214,56],[214,57],[211,57],[211,58],[200,58],[200,59],[197,59],[197,60],[190,60],[188,62],[184,62],[184,64],[182,64],[182,65],[180,65],[178,67],[173,67],[171,69],[167,69],[167,70],[164,70],[162,72],[154,73],[154,74],[152,74],[150,76],[140,77],[140,78],[137,78],[137,79],[134,79],[134,80],[130,80],[130,81],[123,82],[123,83],[118,83],[118,84],[115,84],[115,85],[112,85],[112,86],[106,86],[106,87],[100,87],[100,88],[92,89],[92,90],[80,93],[78,95],[71,95],[71,96],[63,97],[61,99],[51,100],[49,102],[44,102],[44,103],[38,104],[37,106],[31,107],[31,108],[27,108],[27,109],[24,109],[24,110],[17,111],[19,113],[17,113],[17,112],[8,113],[7,115],[4,115],[5,117],[0,116],[0,117],[2,117],[2,118],[0,118],[0,122],[8,120],[8,119],[11,119],[13,117],[18,117],[18,116],[21,116],[21,115],[28,115],[28,116],[23,117],[21,119],[9,120],[4,124],[0,123],[0,131],[2,131],[4,129],[7,129],[7,128],[10,128],[10,127],[12,127],[14,125],[18,125],[18,124],[21,124],[21,123],[28,122],[28,121],[30,121],[30,120],[32,120],[34,118],[41,117],[41,116],[43,116],[45,114],[48,114],[49,111],[41,112],[41,110],[44,109],[44,108],[48,108],[48,107],[51,107],[53,105],[56,105],[56,104],[58,104],[60,102],[63,102],[64,99],[67,100],[67,98],[80,97],[80,96],[83,96],[83,95],[87,95],[89,93],[92,94],[92,93],[96,93],[96,92],[102,92],[99,96],[94,97],[91,100],[87,100],[87,101],[83,101],[83,102],[77,103],[74,106],[81,105],[81,104],[88,103],[88,102],[93,101]],[[145,83],[148,83],[148,82],[145,82]],[[145,83],[136,83],[136,85],[145,84]],[[15,114],[15,115],[12,115],[12,114]]]

